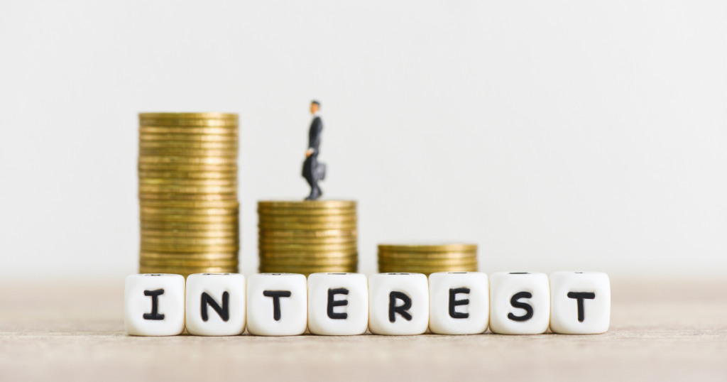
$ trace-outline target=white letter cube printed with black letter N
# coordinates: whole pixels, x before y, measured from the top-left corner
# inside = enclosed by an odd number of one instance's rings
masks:
[[[245,330],[245,276],[190,274],[186,293],[191,335],[238,335]]]

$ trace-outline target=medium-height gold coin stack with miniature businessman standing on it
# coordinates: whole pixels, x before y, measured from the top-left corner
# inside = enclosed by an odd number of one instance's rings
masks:
[[[356,202],[258,202],[260,272],[356,272]]]

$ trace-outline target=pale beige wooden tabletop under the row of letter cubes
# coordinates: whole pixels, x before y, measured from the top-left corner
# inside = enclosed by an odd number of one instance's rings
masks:
[[[727,381],[727,280],[611,279],[603,335],[131,337],[124,280],[0,282],[0,381]]]

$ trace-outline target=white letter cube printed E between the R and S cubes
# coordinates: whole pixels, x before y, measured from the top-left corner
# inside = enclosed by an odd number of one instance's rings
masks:
[[[486,274],[438,272],[429,275],[429,330],[432,333],[484,333],[489,315]]]

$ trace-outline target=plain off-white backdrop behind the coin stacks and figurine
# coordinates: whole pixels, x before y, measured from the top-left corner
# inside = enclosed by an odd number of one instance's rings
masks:
[[[0,274],[137,271],[137,113],[240,114],[241,271],[300,176],[482,271],[727,266],[725,1],[1,1]]]

